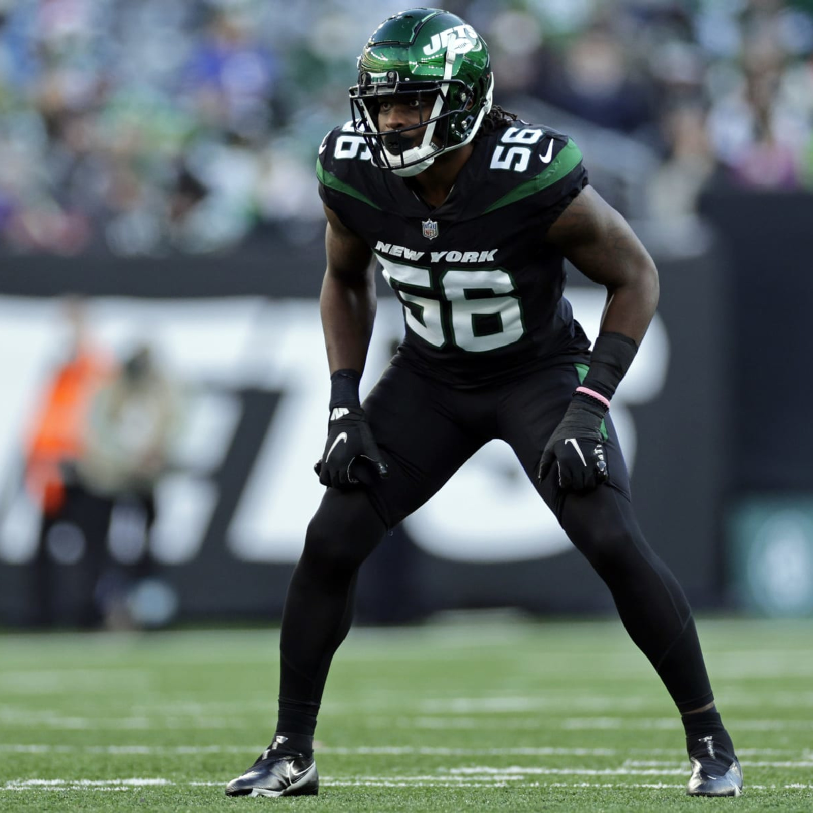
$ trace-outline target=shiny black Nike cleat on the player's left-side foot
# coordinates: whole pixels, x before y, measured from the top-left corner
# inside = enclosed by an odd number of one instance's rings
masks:
[[[237,779],[226,785],[227,796],[315,796],[319,774],[312,756],[276,750],[272,743]]]

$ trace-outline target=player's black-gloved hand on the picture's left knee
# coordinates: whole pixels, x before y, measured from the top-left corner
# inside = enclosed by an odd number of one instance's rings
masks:
[[[346,489],[357,485],[362,472],[370,467],[380,478],[388,475],[386,463],[372,437],[360,406],[337,406],[328,422],[328,441],[322,459],[313,467],[322,485]]]

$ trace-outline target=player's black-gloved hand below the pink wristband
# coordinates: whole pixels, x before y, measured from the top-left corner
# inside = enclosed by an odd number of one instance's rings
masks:
[[[601,433],[606,408],[580,393],[573,396],[559,426],[542,451],[537,469],[541,483],[556,464],[559,486],[566,491],[586,492],[607,479],[606,453]]]

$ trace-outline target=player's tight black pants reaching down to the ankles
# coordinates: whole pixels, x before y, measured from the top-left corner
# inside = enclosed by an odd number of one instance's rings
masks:
[[[388,368],[364,409],[389,477],[365,477],[366,487],[350,491],[327,489],[308,526],[280,637],[280,698],[286,706],[318,707],[333,654],[350,628],[356,574],[385,531],[495,438],[515,451],[567,537],[604,580],[624,627],[678,709],[693,711],[712,701],[689,604],[638,527],[611,420],[606,420],[608,483],[586,494],[565,493],[556,467],[537,483],[541,450],[578,383],[571,364],[471,390],[451,389],[404,367]]]

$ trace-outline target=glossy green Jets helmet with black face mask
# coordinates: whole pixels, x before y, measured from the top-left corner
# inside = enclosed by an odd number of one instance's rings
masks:
[[[472,141],[491,109],[492,93],[489,49],[474,28],[448,11],[413,8],[389,17],[367,41],[350,109],[376,166],[413,176],[438,155]],[[379,104],[398,96],[424,98],[431,115],[382,131]],[[425,132],[417,141],[420,128]]]

